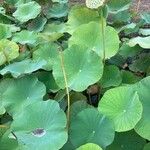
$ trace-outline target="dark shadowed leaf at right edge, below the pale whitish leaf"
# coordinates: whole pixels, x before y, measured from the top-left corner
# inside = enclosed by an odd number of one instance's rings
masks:
[[[129,65],[129,69],[133,72],[146,72],[148,71],[150,66],[150,54],[143,53],[139,55],[139,58],[133,61],[131,65]]]

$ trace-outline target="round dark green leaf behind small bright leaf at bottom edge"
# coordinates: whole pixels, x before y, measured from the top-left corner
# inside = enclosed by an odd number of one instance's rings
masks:
[[[86,143],[95,143],[105,148],[114,139],[111,121],[95,108],[87,108],[77,114],[70,125],[70,141],[75,148]]]

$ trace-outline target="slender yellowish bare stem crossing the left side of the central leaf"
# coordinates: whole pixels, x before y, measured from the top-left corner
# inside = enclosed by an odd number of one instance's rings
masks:
[[[67,94],[67,103],[68,103],[67,129],[69,130],[69,126],[70,126],[70,93],[69,93],[67,75],[66,75],[65,66],[64,66],[63,52],[61,50],[59,50],[59,57],[60,57],[60,61],[61,61],[61,68],[62,68],[62,72],[63,72],[63,76],[64,76],[65,88],[66,88],[66,94]]]

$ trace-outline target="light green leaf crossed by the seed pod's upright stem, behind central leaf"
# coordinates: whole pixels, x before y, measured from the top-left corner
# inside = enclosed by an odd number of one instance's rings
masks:
[[[85,45],[103,58],[104,40],[105,58],[114,56],[119,49],[119,37],[117,31],[110,26],[105,27],[105,38],[103,39],[101,28],[101,24],[96,22],[80,26],[69,39],[69,46],[74,44]]]

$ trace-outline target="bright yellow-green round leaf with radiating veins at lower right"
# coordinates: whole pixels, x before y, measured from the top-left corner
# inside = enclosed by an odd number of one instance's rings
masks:
[[[100,100],[98,110],[114,122],[116,131],[122,132],[135,127],[143,108],[137,92],[127,86],[108,90]]]

